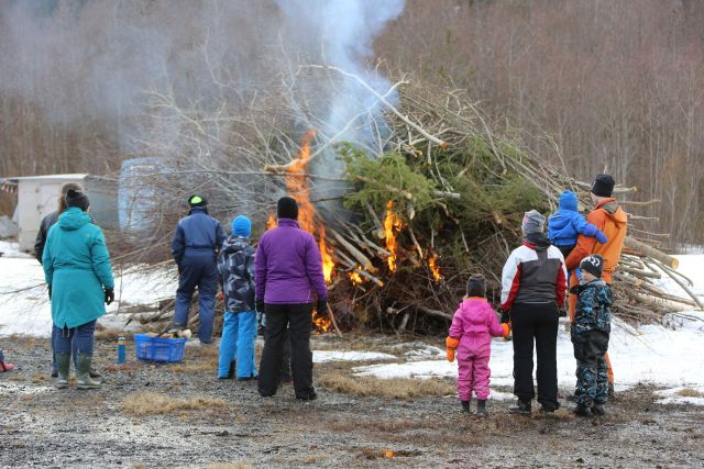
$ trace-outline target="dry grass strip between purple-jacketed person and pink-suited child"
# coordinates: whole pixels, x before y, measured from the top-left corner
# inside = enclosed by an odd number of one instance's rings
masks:
[[[350,377],[340,372],[329,372],[318,379],[318,384],[343,394],[376,397],[382,399],[411,399],[422,395],[452,395],[457,386],[449,380],[437,379],[378,379]]]

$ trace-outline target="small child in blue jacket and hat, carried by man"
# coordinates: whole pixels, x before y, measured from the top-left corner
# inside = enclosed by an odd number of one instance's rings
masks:
[[[560,209],[558,209],[548,220],[548,237],[550,243],[566,258],[574,246],[579,235],[595,237],[597,243],[604,244],[608,241],[600,228],[587,223],[586,217],[578,210],[576,194],[571,190],[565,190],[560,194]]]

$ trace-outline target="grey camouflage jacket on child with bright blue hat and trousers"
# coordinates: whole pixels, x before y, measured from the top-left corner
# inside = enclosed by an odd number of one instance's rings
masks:
[[[218,272],[227,311],[254,311],[254,253],[246,239],[234,235],[222,244]]]

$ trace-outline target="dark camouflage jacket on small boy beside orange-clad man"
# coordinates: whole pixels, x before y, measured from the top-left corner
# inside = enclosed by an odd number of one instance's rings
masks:
[[[614,302],[610,287],[598,279],[574,287],[572,293],[579,295],[572,335],[579,336],[590,331],[610,332],[610,305]]]

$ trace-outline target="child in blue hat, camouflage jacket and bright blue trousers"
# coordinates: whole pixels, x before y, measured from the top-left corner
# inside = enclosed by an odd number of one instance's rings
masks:
[[[254,254],[249,237],[252,223],[240,215],[232,221],[232,234],[222,244],[218,271],[224,293],[224,324],[220,340],[218,378],[246,381],[257,377],[254,367],[256,312],[254,311]]]

